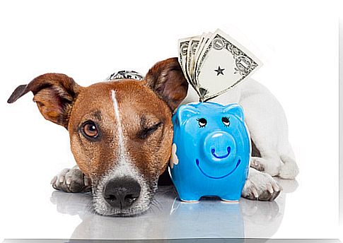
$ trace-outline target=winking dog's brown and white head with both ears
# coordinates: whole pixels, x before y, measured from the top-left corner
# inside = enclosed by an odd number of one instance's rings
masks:
[[[158,62],[144,81],[130,79],[81,87],[47,73],[14,90],[8,102],[33,92],[45,119],[69,131],[71,151],[92,179],[102,215],[135,215],[149,208],[173,140],[173,110],[187,94],[178,59]]]

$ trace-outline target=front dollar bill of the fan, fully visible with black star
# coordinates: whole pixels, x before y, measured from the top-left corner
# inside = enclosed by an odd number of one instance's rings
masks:
[[[232,37],[216,30],[197,60],[194,79],[206,101],[225,93],[262,65],[254,54]]]

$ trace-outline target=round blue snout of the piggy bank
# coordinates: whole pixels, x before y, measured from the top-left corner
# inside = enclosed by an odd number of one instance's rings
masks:
[[[236,142],[225,131],[213,131],[204,138],[204,155],[215,162],[230,162],[236,157]]]

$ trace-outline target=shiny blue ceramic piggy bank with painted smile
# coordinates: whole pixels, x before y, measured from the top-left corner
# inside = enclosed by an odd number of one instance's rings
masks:
[[[250,136],[238,104],[199,102],[173,115],[170,174],[182,201],[238,201],[248,177]]]

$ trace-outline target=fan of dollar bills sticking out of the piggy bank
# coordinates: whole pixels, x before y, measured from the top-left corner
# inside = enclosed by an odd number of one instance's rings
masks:
[[[254,73],[262,62],[221,30],[179,40],[179,62],[200,101],[210,100]]]

